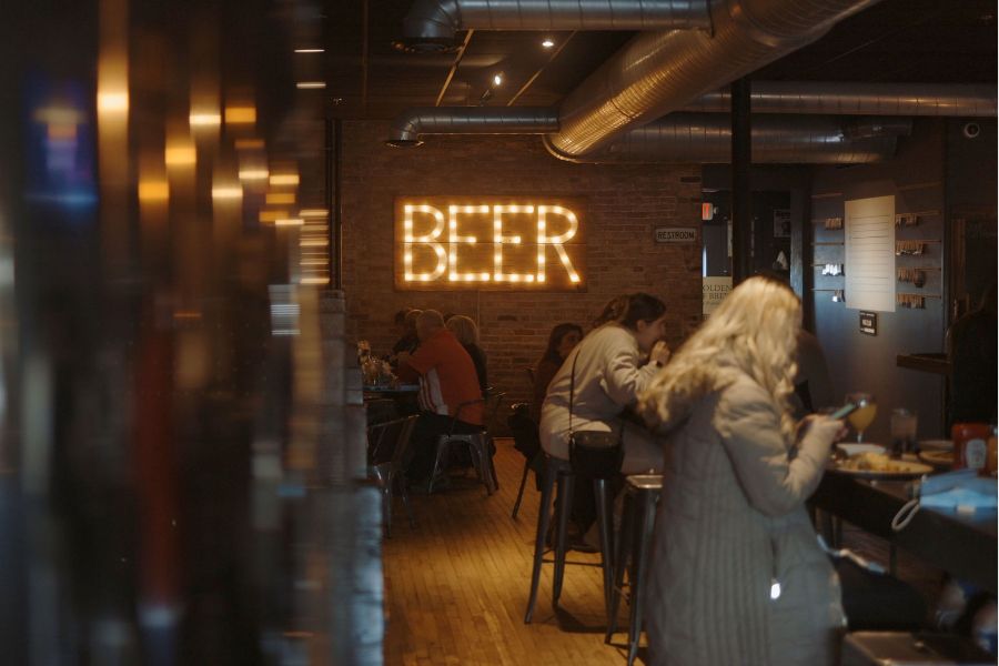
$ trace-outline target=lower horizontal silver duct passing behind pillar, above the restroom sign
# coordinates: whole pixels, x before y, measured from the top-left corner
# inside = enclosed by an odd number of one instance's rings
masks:
[[[868,138],[847,135],[842,121],[821,115],[759,115],[753,118],[753,162],[758,164],[859,164],[895,154],[896,139],[906,123],[886,124]],[[731,120],[719,113],[673,113],[620,135],[606,149],[566,158],[572,162],[727,164],[731,161]]]

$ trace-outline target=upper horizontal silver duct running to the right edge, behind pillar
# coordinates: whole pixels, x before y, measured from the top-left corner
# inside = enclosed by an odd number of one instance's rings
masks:
[[[831,113],[848,115],[996,115],[996,87],[979,83],[867,83],[754,81],[754,113]],[[709,92],[684,111],[727,113],[728,90]]]

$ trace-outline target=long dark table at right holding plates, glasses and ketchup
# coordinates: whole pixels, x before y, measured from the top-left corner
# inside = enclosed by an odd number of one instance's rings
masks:
[[[810,503],[887,539],[926,564],[996,594],[996,509],[969,513],[921,506],[905,527],[892,529],[892,518],[911,496],[911,481],[865,478],[829,471]]]

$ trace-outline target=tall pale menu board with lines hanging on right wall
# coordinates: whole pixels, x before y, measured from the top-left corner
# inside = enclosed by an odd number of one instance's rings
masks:
[[[895,312],[895,196],[845,202],[846,303]]]

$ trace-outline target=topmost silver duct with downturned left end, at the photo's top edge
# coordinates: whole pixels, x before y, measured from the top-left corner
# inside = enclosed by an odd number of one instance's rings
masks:
[[[416,0],[405,51],[450,51],[460,30],[672,30],[710,28],[708,0]]]

